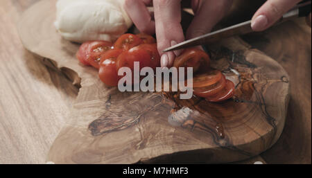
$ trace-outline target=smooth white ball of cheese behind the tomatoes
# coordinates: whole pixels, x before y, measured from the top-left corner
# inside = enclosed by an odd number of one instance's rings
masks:
[[[114,42],[132,21],[123,9],[125,0],[58,0],[55,27],[72,42]]]

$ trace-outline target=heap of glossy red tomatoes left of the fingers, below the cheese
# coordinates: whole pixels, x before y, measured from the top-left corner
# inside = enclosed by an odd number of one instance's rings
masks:
[[[85,42],[76,54],[86,66],[98,69],[99,78],[108,86],[116,87],[121,79],[121,67],[134,70],[134,62],[139,62],[140,70],[146,66],[156,69],[160,66],[156,39],[150,35],[125,34],[112,44],[105,41]]]

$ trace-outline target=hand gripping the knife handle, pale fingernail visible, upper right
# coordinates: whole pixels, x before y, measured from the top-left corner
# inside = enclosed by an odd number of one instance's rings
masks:
[[[268,0],[252,17],[252,30],[266,30],[302,0]],[[306,19],[311,26],[311,14]]]

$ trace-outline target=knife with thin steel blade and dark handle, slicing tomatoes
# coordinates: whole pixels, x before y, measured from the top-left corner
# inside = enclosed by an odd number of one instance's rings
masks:
[[[302,3],[295,6],[295,8],[287,12],[283,17],[281,17],[281,19],[277,22],[277,24],[280,24],[281,22],[287,21],[289,19],[293,19],[294,17],[306,17],[310,13],[311,13],[311,0],[303,1]],[[163,52],[175,51],[178,49],[189,48],[191,46],[198,46],[202,44],[211,44],[214,42],[218,42],[220,39],[232,37],[235,35],[244,35],[252,32],[253,30],[251,28],[251,20],[245,21],[241,24],[229,26],[227,28],[216,30],[212,33],[208,33],[200,37],[189,39],[180,44],[171,46],[170,48],[166,48]]]

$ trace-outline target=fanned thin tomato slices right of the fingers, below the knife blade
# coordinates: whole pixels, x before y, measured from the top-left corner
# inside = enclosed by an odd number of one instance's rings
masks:
[[[177,57],[174,66],[193,67],[193,94],[210,102],[221,102],[234,96],[234,83],[218,70],[209,69],[210,57],[198,48],[188,48]]]

